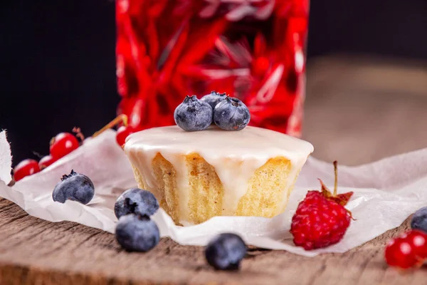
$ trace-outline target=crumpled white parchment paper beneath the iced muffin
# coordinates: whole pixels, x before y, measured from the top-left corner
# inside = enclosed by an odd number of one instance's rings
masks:
[[[221,232],[240,234],[247,244],[265,249],[281,249],[306,257],[326,252],[342,253],[368,242],[389,229],[399,227],[416,209],[427,204],[427,149],[389,157],[359,167],[339,166],[338,192],[353,191],[347,204],[353,217],[344,239],[325,249],[305,251],[295,247],[290,235],[290,221],[308,190],[319,190],[317,178],[333,188],[332,163],[310,157],[300,172],[285,213],[271,219],[261,217],[214,217],[191,227],[176,226],[160,209],[152,217],[162,237],[171,237],[184,245],[204,246]],[[11,155],[6,134],[0,133],[0,196],[9,199],[28,214],[52,222],[78,222],[107,232],[115,231],[115,199],[127,188],[135,187],[130,162],[115,142],[115,131],[107,130],[88,138],[69,155],[13,187],[10,180]],[[71,170],[93,180],[95,197],[87,205],[74,201],[53,202],[52,191],[63,174]],[[8,175],[9,173],[9,175]]]

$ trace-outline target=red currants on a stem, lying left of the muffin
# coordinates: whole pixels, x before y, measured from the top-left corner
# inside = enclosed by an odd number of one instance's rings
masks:
[[[97,135],[100,135],[100,133],[102,133],[104,130],[113,128],[117,124],[122,124],[120,128],[117,129],[116,133],[116,141],[117,144],[120,145],[120,147],[125,144],[125,140],[128,135],[142,130],[141,128],[127,125],[127,116],[120,115],[114,120],[112,120],[110,123],[105,125],[104,128],[93,134],[92,137],[95,138]],[[38,162],[32,159],[27,159],[19,162],[19,164],[16,165],[16,167],[14,168],[14,180],[19,181],[23,177],[40,172],[44,168],[51,165],[53,162],[56,162],[56,160],[59,160],[61,157],[64,157],[65,155],[68,155],[68,153],[77,149],[80,145],[78,138],[80,138],[82,142],[85,138],[80,132],[80,128],[74,128],[73,132],[75,133],[75,135],[70,133],[59,133],[58,135],[56,135],[56,137],[51,140],[51,153],[49,155],[46,155],[45,157],[42,157],[41,160],[39,160]]]

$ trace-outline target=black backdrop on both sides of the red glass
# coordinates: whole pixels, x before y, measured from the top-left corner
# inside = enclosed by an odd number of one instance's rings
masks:
[[[1,3],[0,129],[16,165],[48,154],[57,133],[91,135],[115,117],[115,4]],[[427,1],[312,1],[307,61],[331,53],[426,60]]]

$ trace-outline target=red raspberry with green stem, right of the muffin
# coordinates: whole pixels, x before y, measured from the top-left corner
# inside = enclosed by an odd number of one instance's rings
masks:
[[[337,162],[334,162],[334,194],[323,184],[322,192],[307,192],[292,217],[290,232],[294,243],[306,250],[318,249],[336,244],[350,224],[352,215],[344,208],[353,192],[337,195]]]

